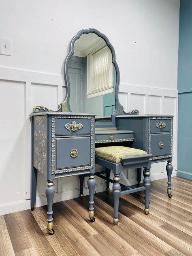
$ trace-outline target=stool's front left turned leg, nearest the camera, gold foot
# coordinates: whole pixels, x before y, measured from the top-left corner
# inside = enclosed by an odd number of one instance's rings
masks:
[[[117,225],[119,222],[119,197],[121,193],[121,186],[119,184],[119,174],[114,174],[113,180],[115,183],[113,183],[113,208],[114,208],[114,218],[113,218],[113,223]]]

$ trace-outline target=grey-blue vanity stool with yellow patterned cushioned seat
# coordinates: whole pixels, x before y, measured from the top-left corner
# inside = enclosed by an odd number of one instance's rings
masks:
[[[100,173],[95,173],[98,177],[106,179],[108,184],[109,181],[113,183],[113,204],[114,204],[114,216],[113,223],[117,225],[119,218],[119,197],[125,194],[131,194],[133,192],[145,190],[145,214],[149,213],[149,190],[151,187],[150,179],[150,168],[151,161],[149,158],[151,154],[141,149],[135,149],[131,147],[123,146],[109,146],[109,147],[97,147],[95,149],[95,163],[105,167],[106,177],[100,175]],[[143,185],[138,188],[130,188],[129,186],[124,186],[119,183],[119,175],[121,171],[141,168],[143,167]],[[109,179],[110,170],[114,173],[113,180]],[[108,186],[107,184],[107,186]],[[126,190],[121,191],[121,187],[126,188]]]

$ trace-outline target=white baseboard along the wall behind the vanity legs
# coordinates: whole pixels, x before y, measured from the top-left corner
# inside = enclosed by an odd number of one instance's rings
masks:
[[[177,175],[177,171],[173,171],[172,177]],[[166,173],[156,173],[156,174],[151,174],[150,175],[151,180],[158,180],[158,179],[164,179],[167,177]],[[143,178],[143,177],[142,177]],[[137,183],[136,177],[131,178],[131,179],[122,179],[120,180],[121,183],[123,183],[126,186],[131,186]],[[143,182],[143,180],[141,181]],[[110,183],[110,189],[112,189],[112,183]],[[95,193],[102,192],[106,190],[106,185],[105,183],[97,184],[95,187]],[[84,188],[83,190],[84,196],[87,196],[89,194],[88,188]],[[75,188],[73,190],[66,190],[63,191],[62,193],[55,193],[55,196],[53,198],[53,203],[57,203],[60,201],[66,201],[72,198],[77,198],[79,196],[79,188]],[[36,207],[40,207],[43,205],[47,205],[47,198],[46,196],[38,196],[36,198]],[[8,214],[8,213],[13,213],[16,211],[24,211],[27,209],[30,209],[30,200],[22,200],[22,201],[17,201],[13,203],[8,203],[8,204],[3,204],[0,205],[0,215]]]

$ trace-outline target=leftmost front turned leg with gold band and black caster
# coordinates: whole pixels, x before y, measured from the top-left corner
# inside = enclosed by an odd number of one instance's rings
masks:
[[[55,233],[53,229],[53,197],[55,194],[55,187],[53,186],[53,180],[47,180],[47,187],[45,188],[45,194],[47,197],[47,229],[50,235]]]

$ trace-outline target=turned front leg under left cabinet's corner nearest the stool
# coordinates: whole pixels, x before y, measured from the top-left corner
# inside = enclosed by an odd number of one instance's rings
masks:
[[[90,204],[90,207],[89,207],[89,217],[91,219],[91,222],[94,222],[95,221],[95,218],[94,218],[94,190],[95,190],[95,176],[94,176],[94,173],[90,175],[88,181],[87,181],[87,186],[88,186],[88,189],[89,189],[89,193],[90,193],[90,201],[89,201],[89,204]]]

